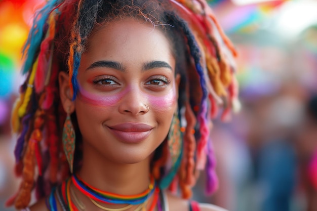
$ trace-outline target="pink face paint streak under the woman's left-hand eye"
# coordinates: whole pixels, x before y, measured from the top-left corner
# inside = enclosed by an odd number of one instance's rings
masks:
[[[79,87],[79,95],[80,99],[88,104],[94,105],[94,106],[114,106],[118,101],[120,101],[124,95],[126,94],[126,91],[117,93],[117,94],[94,94],[86,91],[82,87]]]

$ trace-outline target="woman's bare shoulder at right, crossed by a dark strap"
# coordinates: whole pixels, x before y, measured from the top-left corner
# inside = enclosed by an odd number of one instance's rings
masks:
[[[169,192],[166,192],[167,202],[169,205],[169,210],[187,210],[189,211],[189,201],[183,198],[179,198]],[[208,204],[208,203],[200,203],[200,210],[201,211],[228,211],[224,208],[219,206]]]

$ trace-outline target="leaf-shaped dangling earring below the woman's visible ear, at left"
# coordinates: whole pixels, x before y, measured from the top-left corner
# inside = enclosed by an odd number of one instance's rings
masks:
[[[73,125],[71,123],[69,112],[67,112],[67,116],[65,119],[62,138],[64,152],[69,164],[70,173],[72,174],[76,136]]]

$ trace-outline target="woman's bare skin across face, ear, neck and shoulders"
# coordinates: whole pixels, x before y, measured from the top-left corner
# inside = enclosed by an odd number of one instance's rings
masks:
[[[89,49],[82,56],[77,76],[85,93],[72,101],[68,74],[61,72],[59,75],[64,110],[69,113],[76,111],[83,135],[83,165],[78,174],[101,190],[122,195],[138,194],[148,187],[151,155],[167,136],[177,109],[180,77],[175,75],[176,61],[171,45],[160,29],[131,18],[106,25],[89,41]],[[90,68],[96,61],[114,61],[114,65],[103,63]],[[106,100],[102,101],[103,98]],[[151,130],[145,138],[142,134],[127,135],[123,132],[118,138],[116,133],[111,133],[111,127],[122,122],[143,123],[150,125]],[[126,140],[126,137],[134,141]],[[87,210],[102,210],[73,185],[71,189]],[[169,210],[189,210],[186,199],[167,193],[167,200]],[[147,209],[151,201],[152,197]],[[44,199],[31,206],[31,211],[37,210],[48,210]],[[58,210],[62,210],[60,204]],[[201,205],[201,210],[223,209]]]

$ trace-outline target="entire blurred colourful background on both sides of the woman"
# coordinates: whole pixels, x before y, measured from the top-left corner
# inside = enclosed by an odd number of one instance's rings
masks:
[[[0,0],[0,210],[15,193],[10,114],[21,49],[44,0]],[[239,57],[242,110],[214,122],[219,189],[194,198],[230,211],[317,210],[317,1],[212,0]]]

